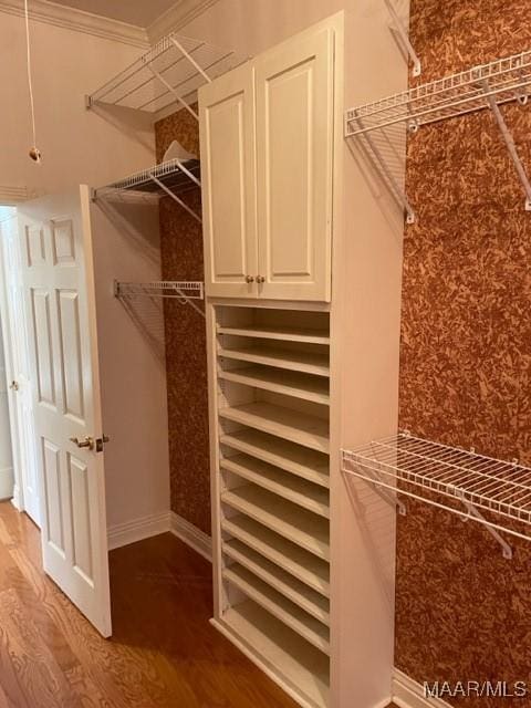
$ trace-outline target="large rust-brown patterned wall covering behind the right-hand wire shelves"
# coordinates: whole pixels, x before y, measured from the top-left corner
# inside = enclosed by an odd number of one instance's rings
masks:
[[[529,0],[413,0],[421,82],[531,49]],[[531,173],[531,102],[502,108]],[[409,139],[400,428],[531,465],[531,214],[493,116]],[[424,680],[528,680],[531,543],[408,501],[397,540],[396,666]]]

